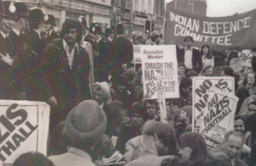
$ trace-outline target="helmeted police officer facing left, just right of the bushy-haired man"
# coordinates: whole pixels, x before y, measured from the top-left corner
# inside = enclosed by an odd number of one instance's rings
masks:
[[[96,47],[93,57],[94,80],[95,82],[108,82],[108,75],[111,66],[110,50],[111,45],[108,39],[102,38],[102,29],[97,24],[92,27]]]

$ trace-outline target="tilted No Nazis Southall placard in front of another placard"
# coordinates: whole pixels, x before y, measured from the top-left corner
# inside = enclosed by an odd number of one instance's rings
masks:
[[[234,94],[211,88],[199,132],[205,136],[208,152],[221,144],[225,134],[233,130],[238,100]]]

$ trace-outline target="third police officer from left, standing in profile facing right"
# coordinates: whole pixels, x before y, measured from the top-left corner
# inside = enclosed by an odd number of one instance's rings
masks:
[[[30,51],[29,56],[24,62],[26,71],[24,79],[27,86],[27,99],[33,101],[45,101],[43,95],[43,84],[40,80],[40,58],[43,54],[46,43],[41,38],[41,32],[44,29],[44,14],[39,8],[31,8],[28,24],[30,31],[25,35],[24,41],[27,49]]]

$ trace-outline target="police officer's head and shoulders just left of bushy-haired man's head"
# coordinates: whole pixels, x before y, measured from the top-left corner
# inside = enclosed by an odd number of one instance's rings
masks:
[[[46,41],[46,44],[49,44],[54,41],[54,39],[60,38],[59,32],[54,31],[55,17],[52,14],[47,14],[45,16],[44,28],[45,31],[41,33],[41,37]]]

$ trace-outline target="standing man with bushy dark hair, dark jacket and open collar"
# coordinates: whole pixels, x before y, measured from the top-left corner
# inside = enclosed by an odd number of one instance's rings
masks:
[[[68,112],[79,102],[91,98],[88,88],[90,59],[80,46],[80,22],[66,20],[60,37],[60,40],[47,45],[42,57],[42,80],[47,103],[51,106],[52,129],[65,120]]]

